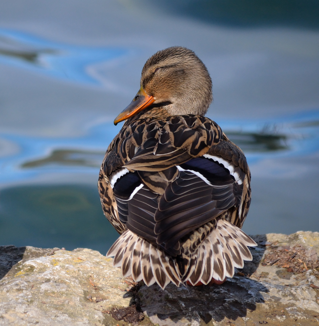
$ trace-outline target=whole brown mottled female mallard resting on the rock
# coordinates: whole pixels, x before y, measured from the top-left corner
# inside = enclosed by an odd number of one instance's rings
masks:
[[[204,115],[212,82],[189,49],[155,53],[105,154],[99,193],[121,236],[107,256],[147,286],[222,283],[252,260],[240,230],[250,201],[243,152]]]

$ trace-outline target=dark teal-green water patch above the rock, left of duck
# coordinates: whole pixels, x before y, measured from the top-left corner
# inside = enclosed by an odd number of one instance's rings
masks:
[[[28,185],[1,191],[2,244],[88,247],[106,253],[117,233],[109,227],[96,187]]]

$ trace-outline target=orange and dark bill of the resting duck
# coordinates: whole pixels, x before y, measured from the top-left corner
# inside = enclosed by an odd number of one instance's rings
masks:
[[[154,101],[154,97],[147,95],[143,87],[141,87],[133,101],[115,118],[114,125],[116,126],[119,122],[126,120],[137,112],[147,108]]]

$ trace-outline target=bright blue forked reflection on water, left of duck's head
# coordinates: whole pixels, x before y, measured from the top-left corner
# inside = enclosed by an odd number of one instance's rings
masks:
[[[1,64],[94,85],[100,82],[90,75],[90,65],[130,54],[127,48],[73,46],[8,29],[0,29],[0,42]]]

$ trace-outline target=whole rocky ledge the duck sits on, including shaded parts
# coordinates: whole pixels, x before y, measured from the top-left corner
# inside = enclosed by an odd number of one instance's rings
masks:
[[[97,251],[0,247],[0,325],[318,325],[319,233],[253,238],[254,260],[233,279],[165,290],[124,279]],[[143,321],[112,318],[132,304]]]

